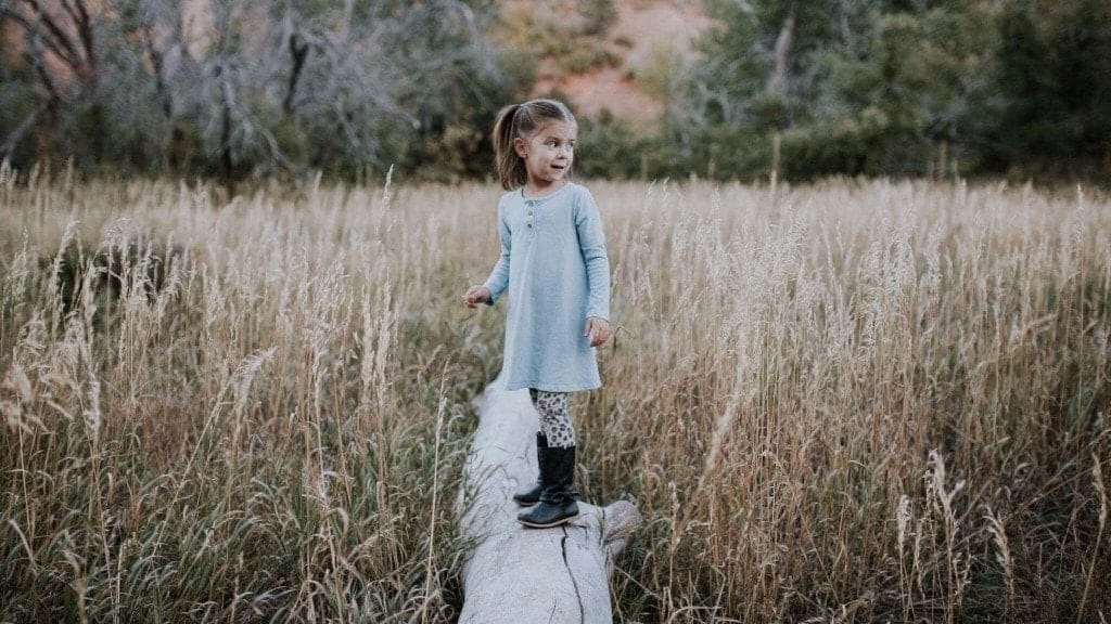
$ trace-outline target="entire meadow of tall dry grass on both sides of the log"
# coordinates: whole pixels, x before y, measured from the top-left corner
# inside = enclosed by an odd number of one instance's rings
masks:
[[[591,183],[614,620],[1111,620],[1111,199]],[[0,181],[0,622],[454,622],[493,184]]]

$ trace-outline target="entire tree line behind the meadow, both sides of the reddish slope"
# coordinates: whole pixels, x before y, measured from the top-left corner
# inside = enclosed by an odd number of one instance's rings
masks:
[[[717,26],[663,76],[661,130],[581,120],[585,174],[1111,179],[1105,0],[704,4]],[[481,178],[490,120],[532,87],[491,36],[493,0],[206,7],[0,0],[0,159],[229,183]]]

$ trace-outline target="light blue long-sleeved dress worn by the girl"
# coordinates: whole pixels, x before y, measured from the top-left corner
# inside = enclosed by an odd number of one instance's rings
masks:
[[[507,390],[590,390],[602,384],[587,319],[610,318],[610,261],[594,198],[568,182],[540,198],[520,189],[498,202],[501,256],[483,284],[509,291]]]

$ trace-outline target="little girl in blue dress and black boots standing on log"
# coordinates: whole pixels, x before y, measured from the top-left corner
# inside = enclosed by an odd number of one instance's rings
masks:
[[[590,192],[568,180],[577,131],[574,115],[553,100],[498,113],[496,167],[510,191],[498,202],[501,258],[486,283],[466,295],[469,308],[493,305],[509,289],[502,376],[506,390],[528,388],[540,414],[540,477],[513,495],[534,505],[518,516],[533,527],[579,515],[568,393],[601,385],[593,348],[610,338],[601,219]]]

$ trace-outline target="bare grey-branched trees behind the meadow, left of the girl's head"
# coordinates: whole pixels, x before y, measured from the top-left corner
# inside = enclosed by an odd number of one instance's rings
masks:
[[[217,177],[476,175],[514,88],[486,1],[0,0],[0,158]]]

